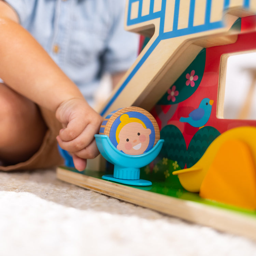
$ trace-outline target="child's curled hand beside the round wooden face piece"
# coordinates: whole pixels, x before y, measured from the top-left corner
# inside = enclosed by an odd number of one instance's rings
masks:
[[[99,154],[94,134],[99,132],[103,118],[81,98],[60,104],[56,117],[63,125],[57,141],[72,154],[75,168],[83,171],[86,159]]]

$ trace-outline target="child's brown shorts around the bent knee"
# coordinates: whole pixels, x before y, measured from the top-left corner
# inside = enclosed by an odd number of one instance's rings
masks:
[[[62,128],[55,118],[55,114],[44,108],[40,108],[42,117],[48,127],[39,150],[27,161],[11,166],[0,166],[1,171],[31,170],[51,168],[63,164],[63,159],[58,152],[56,136]]]

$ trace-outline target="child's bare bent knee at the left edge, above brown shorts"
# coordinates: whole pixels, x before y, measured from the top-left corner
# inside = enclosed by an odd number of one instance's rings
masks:
[[[47,127],[33,102],[0,83],[0,160],[14,165],[38,151]]]

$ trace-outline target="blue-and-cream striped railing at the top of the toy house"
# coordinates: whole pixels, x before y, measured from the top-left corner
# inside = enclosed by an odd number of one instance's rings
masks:
[[[239,10],[239,11],[238,11]],[[229,11],[256,11],[254,0],[129,0],[127,26],[160,18],[159,34],[166,38],[193,34],[223,27]]]

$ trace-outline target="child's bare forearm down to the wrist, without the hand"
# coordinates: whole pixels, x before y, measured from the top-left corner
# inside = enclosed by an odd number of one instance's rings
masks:
[[[18,93],[53,111],[63,101],[82,98],[79,89],[17,21],[17,14],[0,1],[1,79]]]

